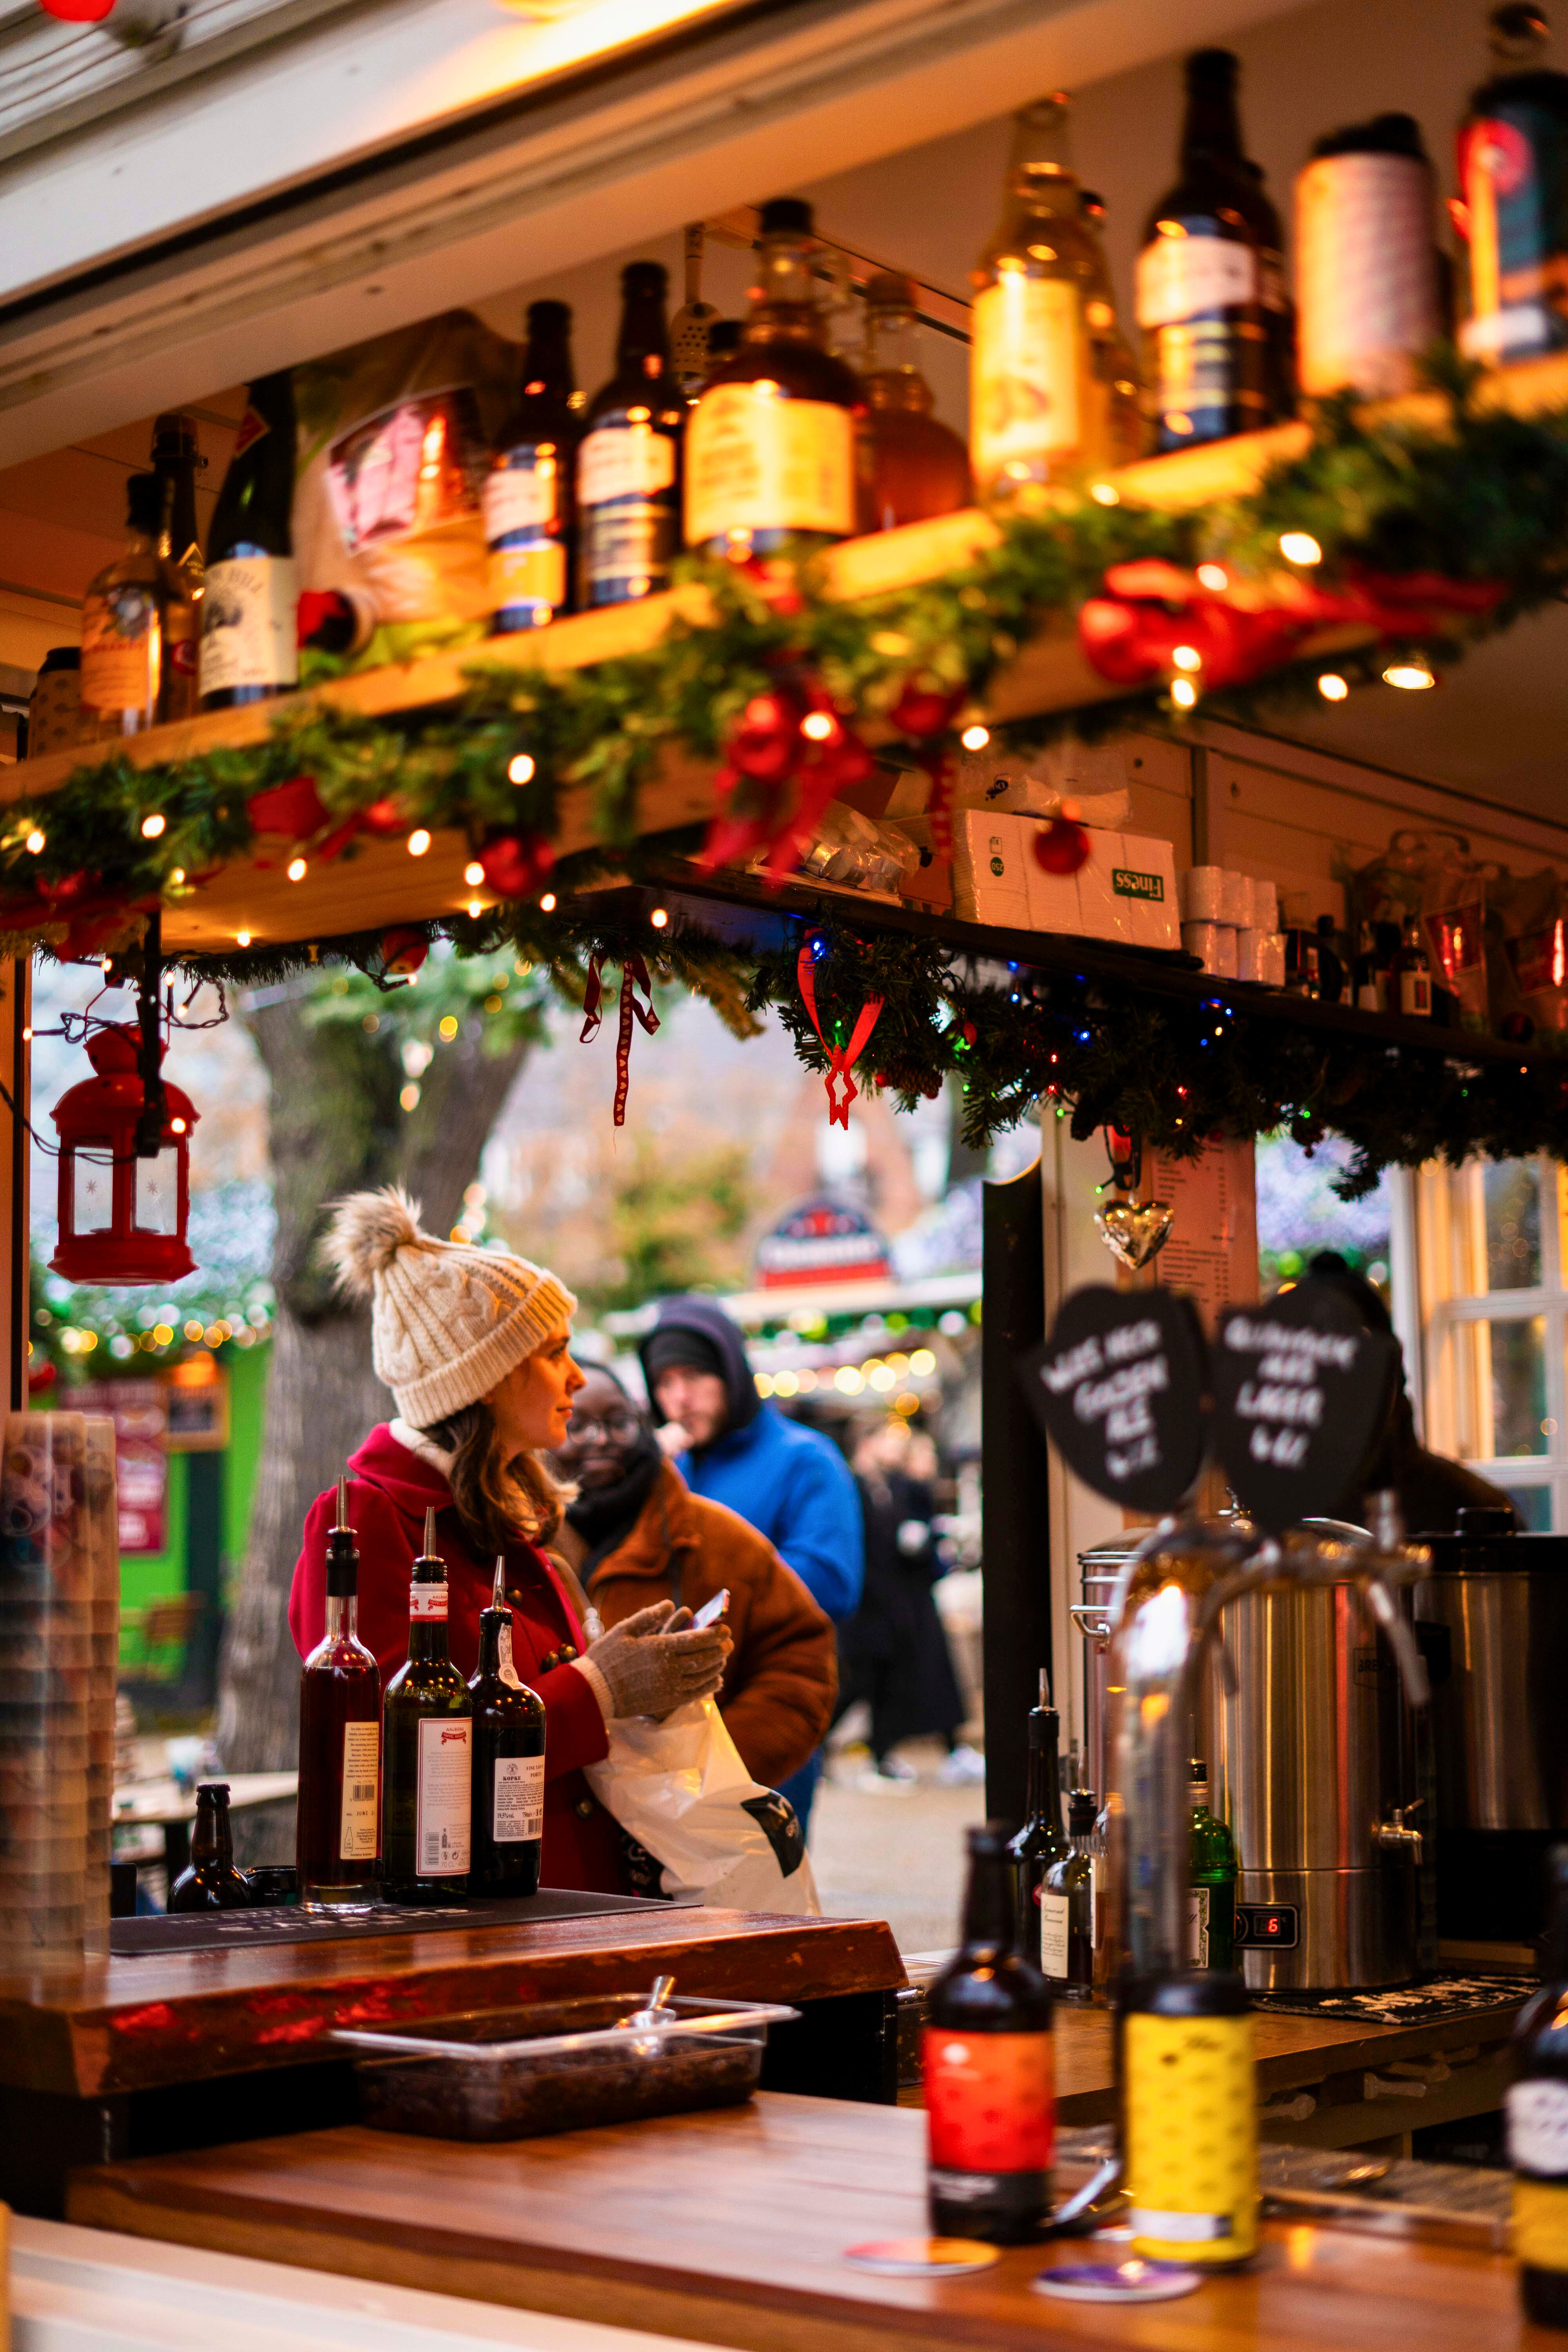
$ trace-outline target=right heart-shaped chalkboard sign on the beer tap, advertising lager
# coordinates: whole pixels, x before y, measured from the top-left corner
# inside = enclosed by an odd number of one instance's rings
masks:
[[[1399,1341],[1366,1331],[1326,1282],[1225,1308],[1213,1343],[1213,1444],[1258,1526],[1349,1517],[1387,1428]]]

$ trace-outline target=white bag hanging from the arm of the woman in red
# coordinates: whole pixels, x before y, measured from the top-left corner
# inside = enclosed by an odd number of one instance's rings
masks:
[[[672,1903],[820,1917],[795,1806],[750,1778],[712,1698],[656,1724],[616,1717],[588,1785],[628,1837],[663,1865]]]

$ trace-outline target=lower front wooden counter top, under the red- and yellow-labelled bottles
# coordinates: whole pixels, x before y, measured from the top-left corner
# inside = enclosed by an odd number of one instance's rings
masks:
[[[1547,2352],[1505,2256],[1265,2225],[1255,2267],[1178,2303],[1030,2291],[1086,2241],[931,2286],[844,2265],[924,2232],[924,2117],[745,2107],[465,2147],[360,2129],[78,2173],[68,2216],[134,2237],[564,2312],[745,2352]]]

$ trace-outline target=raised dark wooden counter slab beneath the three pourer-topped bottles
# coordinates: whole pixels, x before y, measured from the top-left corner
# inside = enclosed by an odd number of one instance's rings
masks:
[[[101,2098],[339,2056],[334,2025],[625,1992],[661,1971],[712,1999],[818,2002],[905,1983],[879,1919],[677,1910],[428,1936],[270,1943],[0,1978],[0,2084]]]

